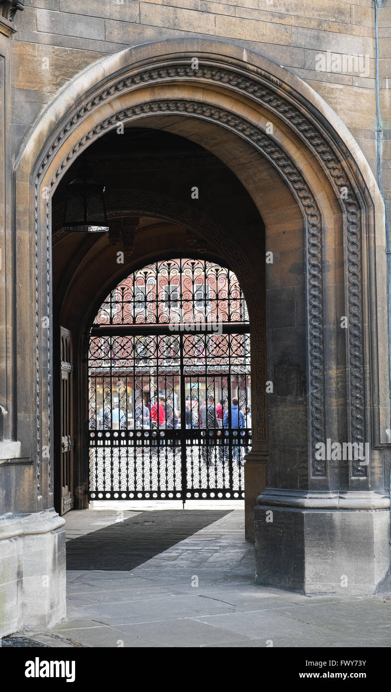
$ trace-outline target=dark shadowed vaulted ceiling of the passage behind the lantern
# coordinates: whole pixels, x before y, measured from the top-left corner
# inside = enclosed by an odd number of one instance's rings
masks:
[[[219,158],[199,144],[160,129],[125,128],[109,132],[87,151],[93,178],[105,187],[110,233],[75,233],[63,230],[66,188],[75,179],[81,160],[64,175],[53,196],[53,295],[61,310],[65,295],[76,277],[91,264],[96,266],[98,290],[109,273],[109,257],[124,249],[115,238],[116,224],[133,222],[136,235],[127,248],[127,260],[160,249],[161,253],[186,248],[215,254],[197,235],[197,227],[214,226],[237,237],[246,228],[260,249],[264,238],[262,218],[237,176]],[[198,188],[194,199],[192,190]],[[163,239],[163,237],[165,239]],[[114,259],[115,262],[115,259]],[[99,269],[98,269],[99,267]],[[118,269],[118,265],[116,266]],[[107,269],[106,269],[107,271]],[[84,279],[82,279],[84,283]]]

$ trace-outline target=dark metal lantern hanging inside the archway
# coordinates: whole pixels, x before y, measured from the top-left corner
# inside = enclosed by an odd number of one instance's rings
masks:
[[[66,188],[63,228],[81,233],[105,233],[109,230],[104,186],[93,179],[85,155],[75,179]]]

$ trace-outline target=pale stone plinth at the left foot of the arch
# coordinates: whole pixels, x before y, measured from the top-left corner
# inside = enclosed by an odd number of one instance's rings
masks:
[[[64,523],[54,509],[0,517],[0,637],[65,617]]]

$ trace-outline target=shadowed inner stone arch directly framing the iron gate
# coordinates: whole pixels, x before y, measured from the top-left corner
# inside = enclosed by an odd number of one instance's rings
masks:
[[[117,210],[118,211],[118,210]],[[120,210],[122,215],[125,210]],[[149,235],[146,231],[140,234],[136,249],[130,259],[124,265],[116,264],[116,246],[108,246],[107,244],[100,251],[94,254],[94,246],[92,251],[84,251],[82,263],[78,266],[77,273],[71,266],[67,277],[69,285],[66,286],[68,293],[62,302],[62,307],[58,306],[57,317],[61,315],[60,322],[71,329],[73,334],[73,343],[75,345],[75,376],[78,381],[75,383],[75,392],[73,399],[79,399],[78,405],[75,406],[75,418],[84,421],[87,417],[86,406],[87,401],[84,401],[84,390],[87,391],[87,358],[89,347],[89,329],[91,322],[96,315],[96,311],[104,297],[115,287],[118,282],[123,280],[129,273],[154,262],[167,258],[173,252],[180,257],[192,257],[203,259],[208,257],[217,263],[226,263],[230,267],[235,268],[241,285],[244,286],[245,295],[250,295],[251,298],[251,343],[253,348],[264,345],[266,341],[265,319],[264,319],[264,276],[254,277],[248,271],[248,259],[242,251],[235,239],[227,237],[224,226],[219,226],[208,216],[202,212],[197,212],[194,208],[188,205],[178,203],[174,199],[167,197],[154,197],[149,194],[147,201],[140,197],[136,192],[135,195],[129,194],[127,198],[126,212],[141,215],[152,215],[154,219],[161,218],[161,224],[157,226],[158,238],[151,237],[154,231],[155,224],[147,227]],[[163,222],[164,219],[164,222]],[[175,230],[178,232],[175,233]],[[61,232],[60,232],[61,236]],[[145,237],[145,247],[143,246],[143,238]],[[153,238],[153,239],[152,239]],[[160,241],[160,242],[159,242]],[[167,244],[172,248],[167,250]],[[76,257],[75,264],[80,260]],[[109,269],[108,269],[109,268]],[[98,280],[97,280],[98,277]],[[88,287],[88,288],[87,288]],[[265,350],[261,349],[257,353],[257,359],[253,363],[253,387],[252,401],[255,401],[255,411],[260,412],[260,425],[257,428],[258,441],[263,445],[264,453],[267,450],[267,419],[264,415],[265,388],[260,383],[264,382],[266,372]],[[77,374],[79,372],[79,374]],[[82,401],[80,401],[80,392],[82,392]],[[79,438],[79,453],[77,459],[77,470],[75,471],[78,482],[76,482],[76,504],[78,508],[88,507],[87,498],[87,480],[88,480],[88,439],[84,439],[84,428],[82,424],[78,426],[79,430],[76,435]],[[249,465],[248,465],[249,466]],[[245,471],[248,471],[246,466]],[[259,471],[263,473],[264,465],[258,464]],[[257,488],[264,486],[264,477],[258,479]],[[251,484],[250,488],[251,490]],[[257,497],[257,490],[253,489],[253,497],[248,493],[246,497],[246,505],[248,512],[251,513],[251,525],[253,525],[253,507]],[[87,503],[87,504],[86,504]],[[250,525],[250,526],[251,526]]]

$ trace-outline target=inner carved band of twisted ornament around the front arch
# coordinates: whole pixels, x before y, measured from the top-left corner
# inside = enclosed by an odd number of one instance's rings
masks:
[[[218,107],[212,107],[205,102],[183,101],[183,100],[158,100],[147,103],[138,104],[134,107],[127,108],[118,113],[114,113],[109,118],[105,118],[98,125],[84,135],[78,143],[76,143],[66,160],[62,162],[55,173],[55,177],[51,181],[52,187],[56,180],[61,176],[62,170],[66,163],[77,158],[86,143],[92,143],[101,134],[102,131],[109,131],[116,127],[118,122],[134,120],[142,115],[150,113],[173,113],[185,114],[202,118],[203,120],[212,120],[219,122],[224,127],[228,127],[235,134],[240,134],[242,138],[246,138],[248,142],[257,149],[282,175],[289,186],[295,199],[297,199],[302,214],[306,220],[307,229],[307,302],[308,302],[308,329],[309,329],[309,402],[311,416],[309,421],[310,439],[311,439],[311,474],[313,477],[327,477],[327,466],[325,462],[319,461],[315,457],[316,444],[325,441],[325,368],[324,368],[324,335],[323,335],[323,291],[322,291],[322,222],[321,215],[316,199],[311,192],[311,189],[300,174],[298,168],[287,154],[275,143],[275,141],[266,135],[261,129],[253,126],[250,122],[237,117],[234,113],[225,111]],[[185,209],[185,212],[187,210]],[[206,230],[206,229],[203,229]],[[216,237],[215,237],[216,240]],[[188,237],[188,242],[199,245],[199,242],[192,237]],[[224,235],[221,237],[221,245],[227,251],[227,242]],[[202,251],[203,245],[199,245],[199,251]],[[252,271],[248,267],[246,257],[242,255],[241,248],[237,244],[232,244],[230,251],[231,257],[236,257],[237,262],[242,266],[247,266],[247,271]],[[255,282],[256,282],[255,277]],[[251,282],[248,281],[248,284]],[[261,427],[265,427],[264,424]]]

